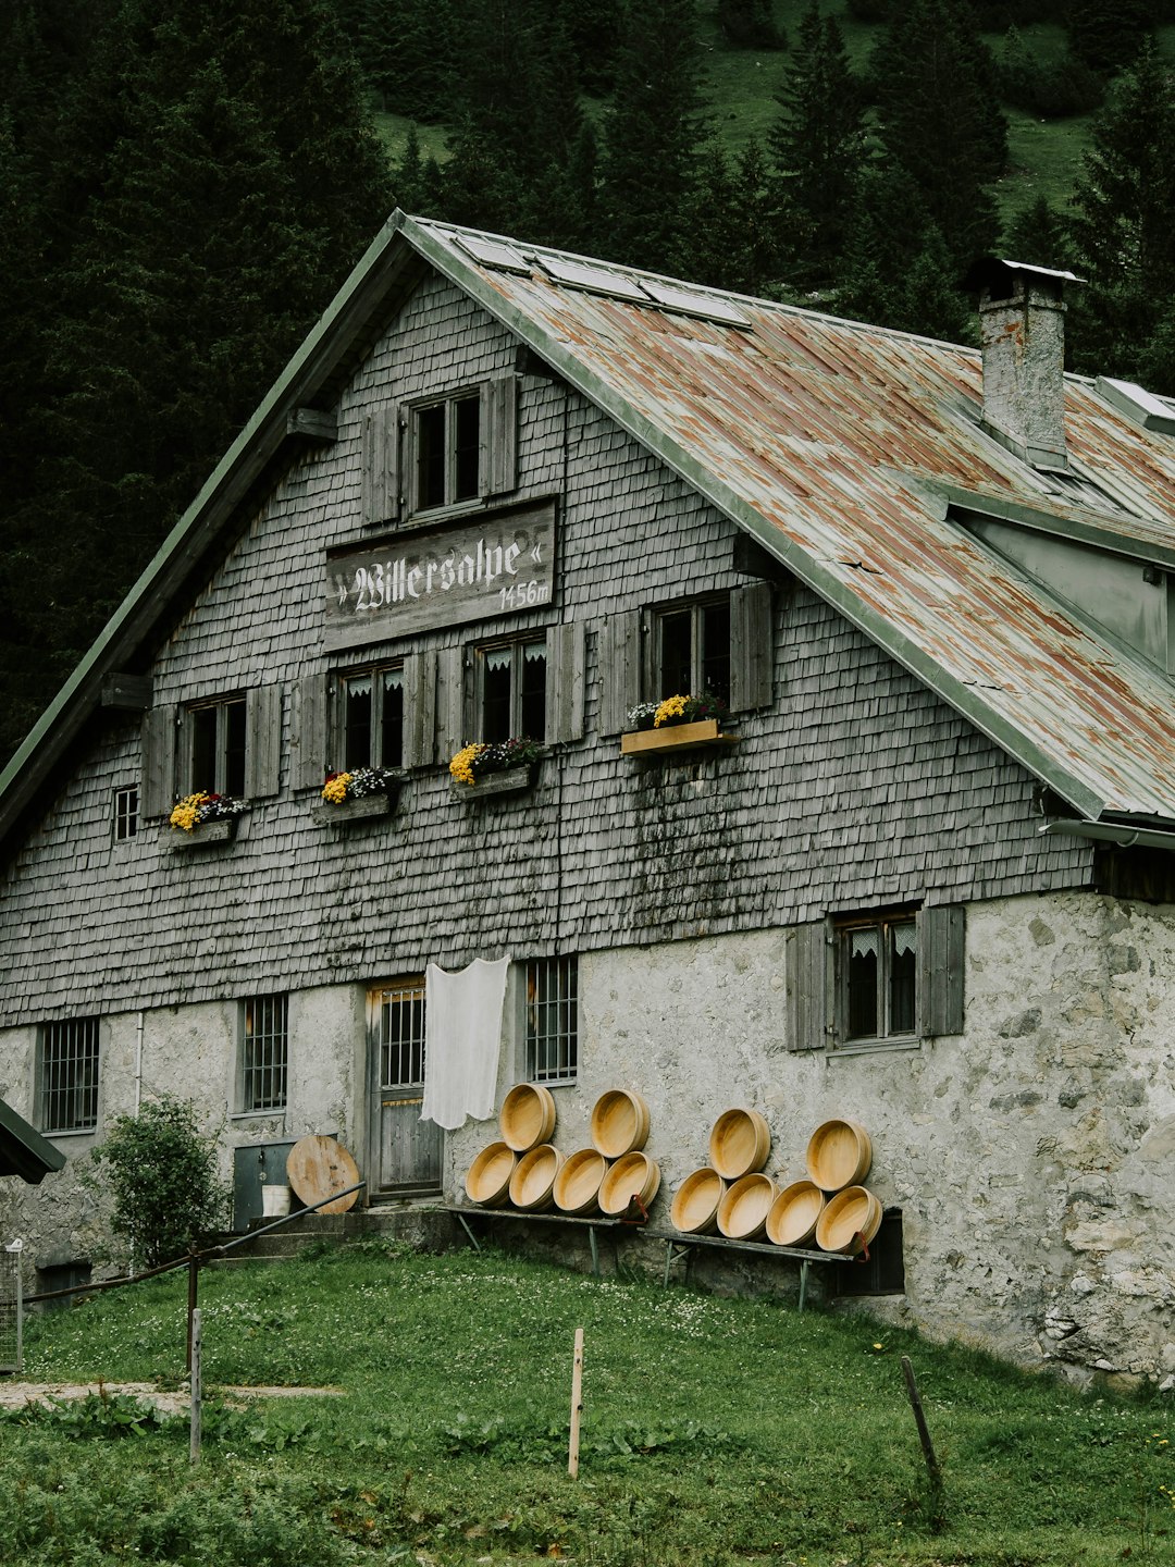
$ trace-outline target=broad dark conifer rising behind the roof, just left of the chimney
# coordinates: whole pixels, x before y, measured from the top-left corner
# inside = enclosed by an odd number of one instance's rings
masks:
[[[964,271],[995,246],[992,186],[1007,161],[995,67],[965,0],[896,0],[870,74],[882,149]]]

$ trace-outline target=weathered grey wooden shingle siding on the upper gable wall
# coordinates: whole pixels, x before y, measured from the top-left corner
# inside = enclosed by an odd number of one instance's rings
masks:
[[[149,721],[168,736],[168,769],[175,704],[193,693],[243,691],[257,669],[290,689],[327,675],[324,552],[357,536],[363,412],[512,365],[506,329],[451,285],[431,279],[412,296],[340,390],[338,442],[287,472],[161,642]],[[1089,885],[1087,845],[1037,835],[1026,771],[802,586],[777,616],[776,704],[739,715],[738,746],[622,760],[639,608],[746,588],[733,523],[578,393],[534,378],[519,456],[520,501],[559,495],[558,613],[588,628],[584,741],[544,763],[530,793],[462,810],[437,746],[437,655],[497,632],[356,649],[356,664],[404,655],[404,762],[418,771],[395,827],[323,832],[284,793],[258,801],[227,852],[164,859],[157,834],[110,852],[111,784],[139,769],[138,726],[113,719],[22,849],[19,878],[0,884],[0,925],[36,910],[36,937],[9,943],[0,965],[6,1019],[172,1004],[180,976],[182,998],[199,1001],[367,984],[426,959],[457,968],[490,934],[500,951],[592,953],[783,931],[829,909]],[[545,635],[553,616],[528,611],[523,625]],[[299,736],[290,765],[310,788],[321,773],[306,751]],[[155,815],[174,798],[161,766],[144,766]]]

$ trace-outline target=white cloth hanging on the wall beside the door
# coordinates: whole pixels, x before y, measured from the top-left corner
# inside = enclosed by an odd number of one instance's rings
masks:
[[[468,968],[425,970],[425,1103],[421,1120],[456,1131],[494,1114],[509,957]]]

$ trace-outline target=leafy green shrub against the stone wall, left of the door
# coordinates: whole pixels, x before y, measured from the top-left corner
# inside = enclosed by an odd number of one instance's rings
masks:
[[[136,1263],[155,1268],[224,1227],[229,1189],[216,1172],[216,1138],[201,1131],[191,1100],[160,1095],[138,1116],[116,1116],[94,1149],[113,1197],[110,1227]]]

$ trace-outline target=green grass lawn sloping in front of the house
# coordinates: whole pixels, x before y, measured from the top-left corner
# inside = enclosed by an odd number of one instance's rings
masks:
[[[0,1561],[1108,1567],[1175,1559],[1169,1402],[1078,1395],[863,1316],[352,1246],[202,1279],[186,1421],[0,1420]],[[27,1376],[174,1385],[182,1277],[30,1323]],[[578,1481],[572,1344],[584,1329]],[[899,1357],[945,1473],[926,1482]],[[143,1429],[139,1429],[139,1426]]]

